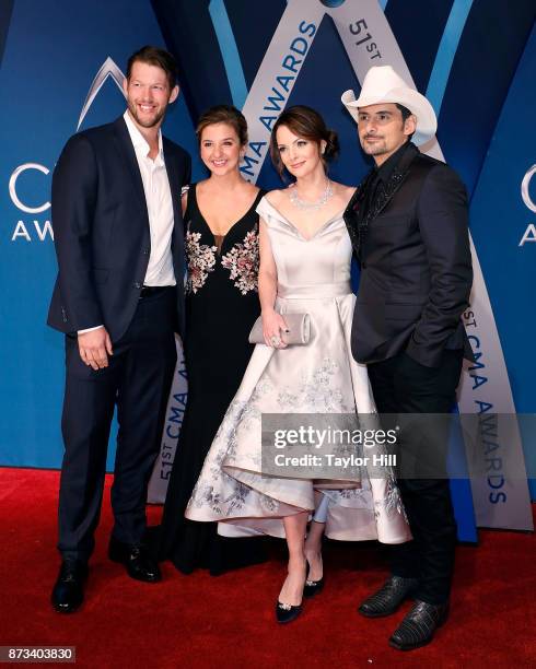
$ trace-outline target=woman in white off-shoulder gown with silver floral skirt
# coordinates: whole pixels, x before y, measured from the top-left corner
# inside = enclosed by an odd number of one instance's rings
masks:
[[[286,537],[289,567],[276,606],[279,622],[294,620],[303,595],[322,588],[324,532],[350,541],[411,538],[389,468],[378,474],[365,467],[346,483],[342,477],[337,483],[263,472],[263,413],[358,412],[375,419],[366,367],[350,351],[356,297],[342,212],[353,189],[326,175],[337,149],[337,136],[310,107],[291,107],[275,125],[272,161],[295,183],[269,192],[257,207],[265,343],[254,350],[186,509],[193,520],[219,520],[218,531],[228,537]],[[283,343],[287,314],[308,315],[307,344]]]

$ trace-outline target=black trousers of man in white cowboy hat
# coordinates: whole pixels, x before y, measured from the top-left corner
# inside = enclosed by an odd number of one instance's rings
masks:
[[[439,367],[426,367],[405,352],[368,366],[372,391],[380,413],[448,414],[462,372],[462,350],[443,352]],[[391,547],[394,575],[419,578],[417,599],[428,603],[444,603],[450,596],[454,570],[456,521],[446,476],[448,424],[445,420],[427,423],[417,421],[413,444],[403,445],[400,459],[417,462],[417,470],[398,479],[400,494],[408,515],[413,540]],[[404,422],[404,421],[403,421]],[[411,432],[409,432],[411,435]],[[433,450],[433,453],[430,453]],[[427,453],[428,451],[428,453]],[[428,467],[428,469],[426,469]],[[404,469],[404,466],[403,466]],[[430,471],[426,478],[422,471]]]

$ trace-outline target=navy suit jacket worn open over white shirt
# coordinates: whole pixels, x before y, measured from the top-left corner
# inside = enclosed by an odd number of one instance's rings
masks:
[[[165,138],[163,151],[175,214],[177,331],[184,334],[180,188],[190,180],[190,157]],[[61,332],[104,325],[117,341],[135,314],[151,251],[143,184],[123,117],[70,138],[54,171],[51,201],[59,271],[48,325]]]

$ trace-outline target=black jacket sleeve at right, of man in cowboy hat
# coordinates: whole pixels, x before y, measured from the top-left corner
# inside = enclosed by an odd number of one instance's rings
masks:
[[[417,208],[431,289],[406,352],[422,365],[435,367],[468,306],[473,283],[465,186],[447,165],[435,165]]]

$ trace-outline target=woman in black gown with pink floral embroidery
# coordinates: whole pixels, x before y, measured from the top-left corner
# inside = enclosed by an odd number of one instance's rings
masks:
[[[159,554],[183,573],[206,567],[213,575],[264,560],[259,538],[228,539],[217,524],[184,517],[223,415],[249,361],[248,333],[260,313],[258,214],[264,195],[245,181],[238,163],[247,125],[234,107],[210,108],[199,119],[199,149],[210,177],[183,198],[188,261],[186,337],[188,403],[173,465]]]

